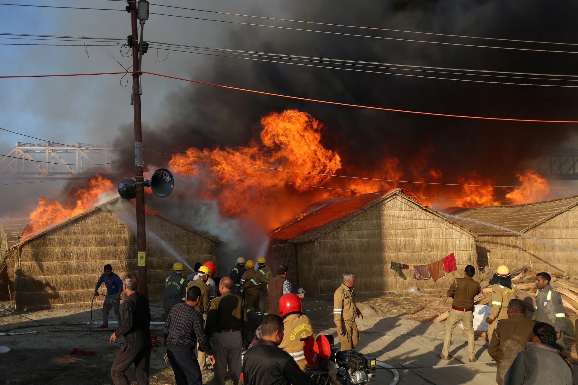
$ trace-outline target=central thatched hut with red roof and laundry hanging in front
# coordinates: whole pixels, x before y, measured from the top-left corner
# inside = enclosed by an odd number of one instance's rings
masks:
[[[272,235],[275,261],[289,266],[293,285],[314,296],[334,293],[344,271],[356,274],[356,292],[364,295],[446,289],[467,264],[476,263],[476,235],[412,193],[394,189],[325,205]],[[433,282],[407,280],[390,269],[391,261],[429,264],[455,254],[457,271]]]

